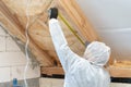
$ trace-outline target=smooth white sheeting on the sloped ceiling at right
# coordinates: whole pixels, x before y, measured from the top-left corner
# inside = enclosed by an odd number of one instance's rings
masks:
[[[131,0],[76,0],[116,59],[131,60]]]

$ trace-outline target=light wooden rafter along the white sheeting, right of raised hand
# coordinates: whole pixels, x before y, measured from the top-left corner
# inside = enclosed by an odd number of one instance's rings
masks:
[[[60,13],[74,24],[81,35],[88,41],[99,40],[96,32],[87,21],[75,0],[58,0]]]

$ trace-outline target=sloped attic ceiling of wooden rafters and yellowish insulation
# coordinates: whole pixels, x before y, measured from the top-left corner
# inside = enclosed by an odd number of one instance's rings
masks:
[[[83,54],[86,39],[98,40],[97,34],[75,0],[0,0],[1,25],[12,37],[24,45],[26,42],[25,32],[28,30],[29,51],[41,66],[61,66],[48,30],[48,9],[51,7],[59,9],[59,20],[66,38],[75,53]],[[26,28],[27,21],[28,27]]]

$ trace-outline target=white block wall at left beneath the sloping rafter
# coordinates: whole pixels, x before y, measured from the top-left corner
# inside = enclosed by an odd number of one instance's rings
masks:
[[[0,83],[11,82],[13,78],[23,79],[25,64],[24,53],[0,26]],[[40,77],[39,66],[33,70],[29,65],[26,76]]]

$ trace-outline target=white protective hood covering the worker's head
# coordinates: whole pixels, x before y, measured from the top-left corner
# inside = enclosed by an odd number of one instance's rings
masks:
[[[110,48],[104,42],[93,41],[91,42],[84,52],[83,58],[88,60],[92,64],[104,66],[110,57]]]

